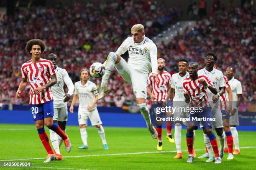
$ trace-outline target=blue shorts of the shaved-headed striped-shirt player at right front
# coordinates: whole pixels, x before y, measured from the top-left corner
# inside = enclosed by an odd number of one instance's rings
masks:
[[[194,120],[194,119],[196,120]],[[200,118],[204,118],[200,119]],[[197,120],[200,119],[200,120]],[[189,113],[189,121],[188,122],[193,122],[195,126],[199,126],[200,122],[202,123],[203,127],[212,127],[212,107],[202,107],[202,110],[197,110],[192,112],[192,110]]]

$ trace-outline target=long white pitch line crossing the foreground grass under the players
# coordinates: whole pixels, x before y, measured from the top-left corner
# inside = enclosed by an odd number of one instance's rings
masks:
[[[239,147],[240,149],[256,148],[256,146],[245,146]],[[195,149],[195,151],[201,151],[205,149]],[[116,155],[137,155],[137,154],[148,154],[148,153],[175,153],[177,150],[172,151],[154,151],[154,152],[137,152],[137,153],[112,153],[112,154],[99,154],[99,155],[77,155],[77,156],[63,156],[62,158],[78,158],[78,157],[94,157],[94,156],[116,156]],[[187,152],[187,150],[182,150]],[[0,161],[15,161],[15,160],[40,160],[45,158],[26,158],[26,159],[12,159],[12,160],[0,160]]]

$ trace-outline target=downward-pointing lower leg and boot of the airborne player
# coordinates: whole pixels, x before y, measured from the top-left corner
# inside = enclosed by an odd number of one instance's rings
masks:
[[[141,115],[144,117],[144,120],[146,121],[148,130],[152,136],[153,139],[157,138],[157,131],[154,127],[154,125],[151,123],[150,115],[148,107],[146,107],[146,103],[137,104],[138,110],[141,111]]]

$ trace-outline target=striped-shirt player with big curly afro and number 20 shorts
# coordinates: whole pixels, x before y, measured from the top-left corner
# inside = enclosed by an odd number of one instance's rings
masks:
[[[20,98],[20,92],[25,89],[28,80],[30,85],[29,103],[31,104],[31,113],[39,138],[48,153],[44,163],[49,163],[51,160],[55,160],[56,156],[51,149],[48,135],[44,130],[44,124],[63,139],[67,152],[70,152],[72,146],[68,136],[61,130],[58,124],[53,122],[54,105],[51,86],[56,84],[57,78],[53,63],[41,58],[45,48],[46,45],[42,40],[33,39],[27,42],[26,50],[31,55],[31,60],[25,62],[21,67],[22,80],[15,96]]]

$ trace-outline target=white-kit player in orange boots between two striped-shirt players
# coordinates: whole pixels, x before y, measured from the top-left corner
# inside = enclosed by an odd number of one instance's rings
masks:
[[[172,75],[171,79],[171,88],[168,92],[166,100],[170,99],[172,102],[173,107],[177,108],[186,108],[188,104],[185,102],[185,98],[183,95],[183,80],[189,77],[189,73],[187,72],[188,69],[188,61],[181,59],[179,60],[179,72]],[[174,156],[174,159],[181,159],[182,158],[182,151],[181,151],[181,141],[182,141],[182,121],[178,121],[179,118],[187,118],[189,117],[189,113],[185,112],[185,110],[174,110],[173,112],[174,117],[174,138],[175,144],[177,149],[177,155]],[[195,140],[195,130],[193,131],[194,140]],[[193,156],[196,158],[196,153],[193,148]]]

